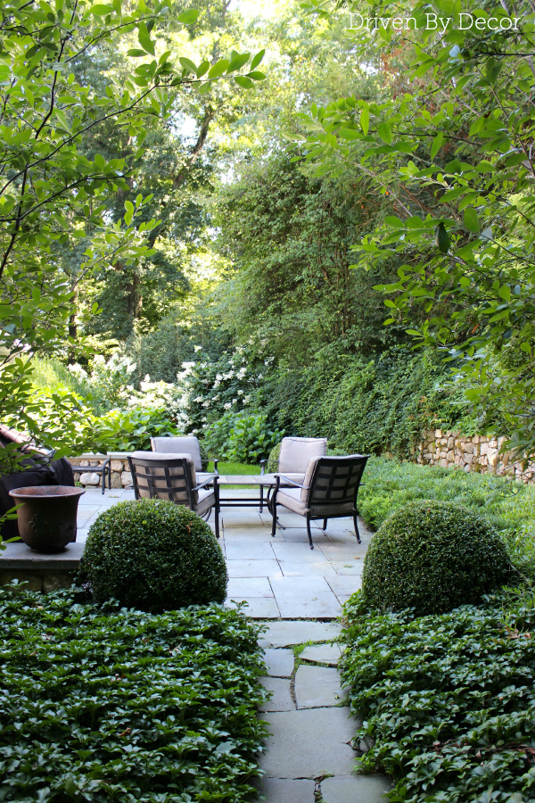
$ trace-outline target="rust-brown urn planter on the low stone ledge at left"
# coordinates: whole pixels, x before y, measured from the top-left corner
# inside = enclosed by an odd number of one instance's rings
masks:
[[[76,541],[78,500],[83,488],[29,485],[9,492],[17,505],[19,534],[36,552],[62,552]]]

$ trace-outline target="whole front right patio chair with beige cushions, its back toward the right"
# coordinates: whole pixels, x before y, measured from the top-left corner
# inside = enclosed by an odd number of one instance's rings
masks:
[[[304,482],[299,483],[288,476],[276,475],[276,485],[271,499],[273,523],[271,534],[276,534],[276,506],[306,517],[310,549],[314,549],[310,522],[323,518],[325,532],[329,518],[353,517],[355,535],[358,533],[358,486],[369,455],[350,454],[347,457],[314,457]],[[283,485],[284,483],[284,485]]]

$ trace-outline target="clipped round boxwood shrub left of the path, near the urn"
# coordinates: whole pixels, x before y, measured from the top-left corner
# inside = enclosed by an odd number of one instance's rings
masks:
[[[97,602],[112,597],[150,613],[224,602],[225,558],[210,526],[171,501],[114,505],[87,535],[79,580]]]

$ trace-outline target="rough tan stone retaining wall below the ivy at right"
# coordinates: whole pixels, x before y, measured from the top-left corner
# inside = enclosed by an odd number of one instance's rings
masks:
[[[533,482],[535,463],[523,468],[522,461],[509,452],[500,452],[505,438],[488,438],[485,435],[459,435],[432,429],[425,432],[416,446],[414,458],[427,466],[463,468],[466,472],[514,476],[523,483]]]

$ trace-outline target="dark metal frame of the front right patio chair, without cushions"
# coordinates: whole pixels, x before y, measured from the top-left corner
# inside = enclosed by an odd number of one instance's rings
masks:
[[[360,484],[361,484],[360,480],[361,480],[362,475],[364,473],[364,469],[366,468],[366,462],[367,462],[368,457],[369,457],[368,454],[364,454],[364,455],[359,455],[358,457],[348,457],[348,458],[343,458],[343,459],[340,459],[340,458],[338,458],[338,459],[334,458],[333,459],[333,458],[329,458],[329,457],[319,458],[317,460],[316,468],[314,469],[314,474],[312,475],[312,479],[311,479],[309,485],[303,485],[303,484],[300,484],[300,483],[296,483],[295,480],[292,480],[289,476],[284,476],[282,474],[281,475],[277,474],[276,475],[275,490],[273,492],[273,496],[271,497],[271,508],[272,508],[272,511],[271,511],[272,512],[271,535],[275,538],[276,525],[277,525],[276,506],[277,506],[277,504],[283,504],[283,506],[284,506],[284,502],[281,503],[281,502],[277,502],[276,501],[277,493],[278,493],[278,491],[280,489],[281,480],[283,480],[284,483],[288,483],[288,484],[293,485],[293,486],[295,486],[297,488],[301,488],[301,490],[309,491],[309,494],[308,494],[308,506],[305,509],[305,512],[303,514],[298,514],[298,515],[303,515],[307,520],[307,534],[309,535],[309,544],[310,544],[310,549],[311,550],[314,549],[314,543],[312,542],[312,534],[310,532],[310,522],[311,521],[317,521],[319,519],[323,519],[323,523],[324,523],[323,531],[325,532],[325,530],[327,528],[327,520],[329,518],[353,517],[353,524],[355,526],[355,535],[357,536],[358,543],[360,543],[360,534],[358,532],[358,521],[357,521],[357,517],[358,517],[357,496],[358,496],[358,488],[360,487]],[[353,484],[353,487],[351,488],[351,480],[352,480],[352,477],[353,477],[353,472],[348,472],[348,475],[347,475],[347,478],[346,478],[346,483],[345,483],[345,488],[344,488],[344,490],[347,492],[347,495],[345,497],[342,497],[342,499],[338,498],[338,499],[331,500],[330,499],[330,495],[333,492],[340,493],[340,491],[341,491],[340,486],[338,486],[337,488],[333,487],[334,480],[337,477],[338,478],[340,477],[339,469],[340,468],[347,469],[348,464],[354,465],[354,466],[356,466],[358,468],[362,467],[362,468],[359,468],[357,482],[355,484]],[[324,474],[322,472],[322,469],[324,469],[324,468],[329,469],[329,473],[328,474]],[[325,479],[327,480],[326,489],[325,489]],[[317,502],[314,501],[314,492],[316,490],[318,490],[318,491],[321,490],[322,493],[325,493],[325,490],[326,490],[326,496],[323,496],[321,499],[317,500]],[[352,509],[349,512],[347,510],[342,512],[342,513],[341,512],[336,512],[336,509],[340,510],[340,507],[342,505],[348,505],[348,504],[352,504]],[[310,512],[310,509],[312,507],[321,507],[321,508],[332,509],[333,512],[332,513],[329,512],[326,516],[325,516],[325,513],[322,513],[321,515],[313,515]],[[292,511],[292,512],[294,512],[294,511]]]

